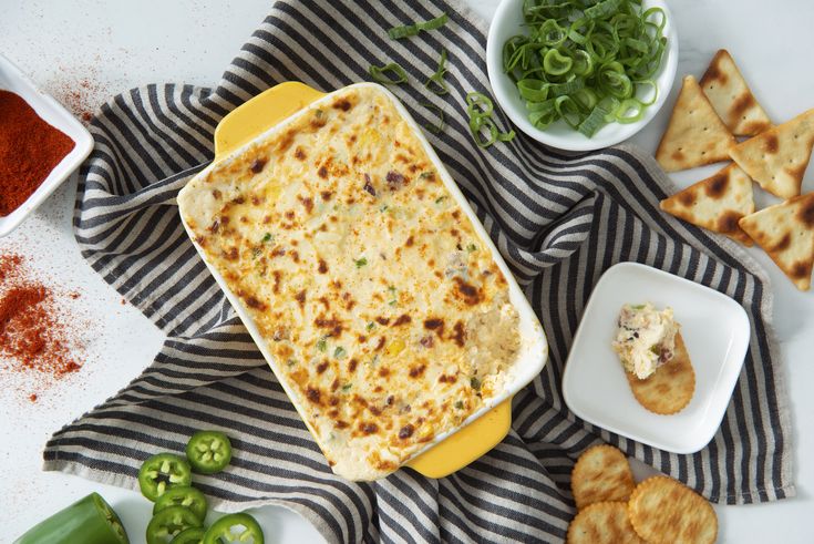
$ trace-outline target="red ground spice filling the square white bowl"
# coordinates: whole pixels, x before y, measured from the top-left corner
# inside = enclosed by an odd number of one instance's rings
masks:
[[[20,207],[75,145],[20,95],[0,90],[0,216]]]

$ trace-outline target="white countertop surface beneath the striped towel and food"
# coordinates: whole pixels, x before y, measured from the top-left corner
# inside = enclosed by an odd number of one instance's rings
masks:
[[[97,105],[106,95],[152,82],[213,85],[269,9],[268,0],[30,0],[3,2],[0,52],[58,99],[80,107]],[[470,0],[490,18],[498,0]],[[769,115],[785,121],[814,106],[814,71],[810,69],[814,3],[785,0],[669,0],[680,37],[679,78],[700,76],[719,48],[740,64]],[[655,152],[669,115],[669,104],[632,141]],[[681,186],[714,167],[673,175]],[[814,167],[803,189],[814,191]],[[17,536],[52,512],[100,491],[123,517],[134,544],[144,542],[150,504],[133,492],[79,478],[41,472],[41,448],[62,424],[103,401],[136,377],[161,346],[162,335],[82,259],[70,223],[75,179],[66,183],[38,213],[8,238],[0,252],[29,257],[42,274],[76,290],[76,308],[95,324],[85,329],[87,356],[83,373],[92,379],[65,383],[27,401],[21,389],[0,389],[0,516],[3,534]],[[773,202],[760,194],[759,205]],[[794,480],[797,496],[771,504],[715,506],[720,542],[812,542],[814,514],[814,291],[798,292],[760,250],[751,253],[766,268],[774,292],[774,325],[792,404]],[[298,515],[284,509],[257,512],[268,542],[319,542]]]

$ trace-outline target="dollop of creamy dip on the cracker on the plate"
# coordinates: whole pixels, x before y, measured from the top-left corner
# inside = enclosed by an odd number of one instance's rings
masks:
[[[643,380],[672,360],[679,331],[672,308],[657,310],[650,302],[626,304],[619,312],[618,325],[612,347],[628,372]]]

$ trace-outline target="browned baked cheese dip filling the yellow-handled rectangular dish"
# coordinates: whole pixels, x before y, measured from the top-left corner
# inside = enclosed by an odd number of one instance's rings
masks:
[[[337,474],[387,475],[505,391],[506,278],[378,88],[311,104],[178,202]]]

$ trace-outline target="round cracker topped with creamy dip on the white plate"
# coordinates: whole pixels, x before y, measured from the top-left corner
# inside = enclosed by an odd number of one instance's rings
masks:
[[[672,309],[625,305],[618,326],[612,348],[636,400],[661,415],[683,410],[695,391],[695,372]]]

